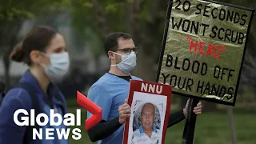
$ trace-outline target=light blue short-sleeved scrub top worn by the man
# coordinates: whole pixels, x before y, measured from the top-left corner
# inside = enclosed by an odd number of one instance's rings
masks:
[[[131,76],[134,80],[142,80]],[[130,82],[113,74],[106,73],[99,78],[88,91],[88,98],[102,108],[102,119],[110,121],[118,117],[118,106],[124,104],[128,98]],[[87,113],[87,118],[92,114]],[[120,144],[122,143],[124,126],[111,134],[108,138],[98,141],[98,144]]]

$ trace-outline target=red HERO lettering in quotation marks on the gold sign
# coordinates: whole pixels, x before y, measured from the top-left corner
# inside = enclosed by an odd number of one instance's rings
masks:
[[[220,58],[222,51],[226,50],[226,46],[214,46],[213,44],[209,43],[207,46],[207,49],[204,49],[204,46],[206,46],[206,42],[198,42],[198,41],[194,41],[193,39],[191,39],[190,37],[186,38],[187,41],[190,42],[190,51],[194,51],[195,53],[199,53],[199,54],[206,54],[208,56],[212,56],[214,58]]]

